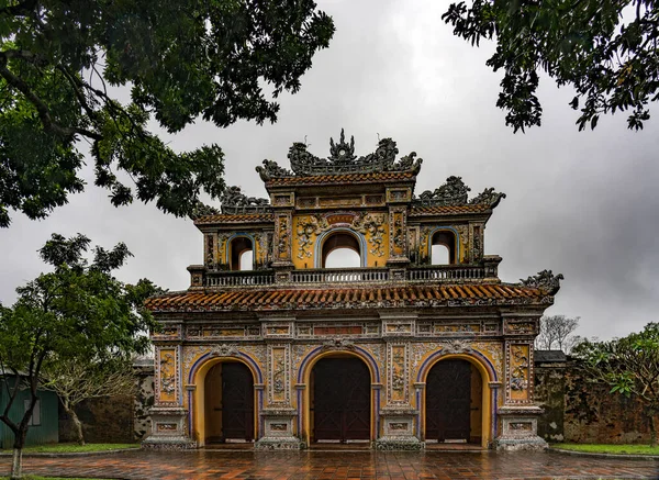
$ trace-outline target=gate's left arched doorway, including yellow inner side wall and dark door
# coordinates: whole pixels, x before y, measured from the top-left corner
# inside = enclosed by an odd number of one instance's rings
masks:
[[[239,361],[215,364],[204,379],[204,443],[254,440],[254,378]]]

